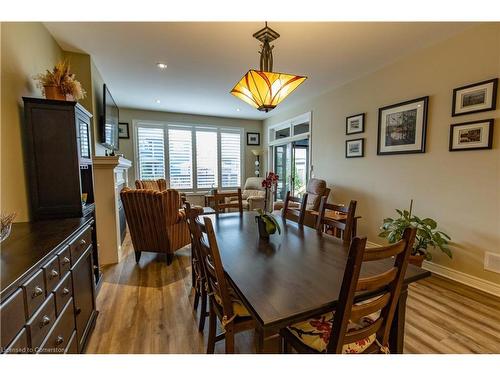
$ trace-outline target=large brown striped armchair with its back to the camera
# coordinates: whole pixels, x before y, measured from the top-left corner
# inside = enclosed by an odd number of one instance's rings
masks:
[[[171,264],[174,252],[191,242],[179,192],[124,188],[120,197],[136,262],[148,251],[165,253]]]

